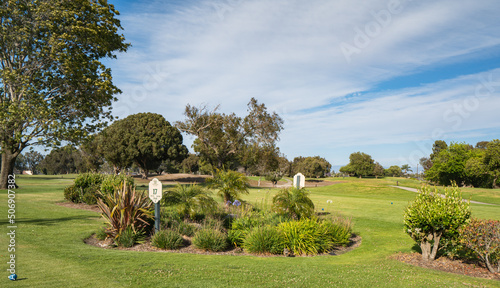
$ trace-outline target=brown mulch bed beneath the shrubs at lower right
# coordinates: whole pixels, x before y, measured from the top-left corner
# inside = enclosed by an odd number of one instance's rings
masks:
[[[434,261],[424,261],[422,260],[422,255],[416,252],[409,254],[398,253],[391,258],[423,268],[440,270],[472,277],[500,280],[500,274],[491,273],[482,263],[470,263],[462,260],[453,260],[447,257],[439,257]]]

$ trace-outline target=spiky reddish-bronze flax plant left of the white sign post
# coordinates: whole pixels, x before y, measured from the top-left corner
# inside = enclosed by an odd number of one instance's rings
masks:
[[[136,193],[135,187],[123,185],[123,189],[110,195],[100,194],[100,197],[97,205],[109,225],[106,230],[109,237],[116,240],[129,227],[139,233],[150,226],[153,202],[145,193]]]

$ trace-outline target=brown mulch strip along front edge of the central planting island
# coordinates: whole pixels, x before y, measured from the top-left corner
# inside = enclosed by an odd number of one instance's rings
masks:
[[[191,237],[183,236],[184,238],[184,247],[177,250],[163,250],[156,248],[151,245],[151,241],[148,239],[146,242],[142,244],[136,244],[133,247],[125,248],[125,247],[116,247],[113,245],[113,242],[110,239],[107,240],[99,240],[96,238],[95,234],[90,236],[83,241],[88,244],[99,248],[104,249],[116,249],[116,250],[128,250],[128,251],[144,251],[144,252],[169,252],[169,253],[189,253],[189,254],[201,254],[201,255],[229,255],[229,256],[258,256],[258,257],[284,257],[283,255],[273,255],[273,254],[251,254],[244,252],[241,248],[233,248],[231,250],[223,251],[223,252],[210,252],[205,250],[200,250],[194,247],[191,244]],[[349,245],[346,247],[337,247],[333,251],[324,255],[341,255],[347,253],[361,245],[361,237],[357,235],[353,235],[350,239]],[[313,256],[307,256],[313,257]]]

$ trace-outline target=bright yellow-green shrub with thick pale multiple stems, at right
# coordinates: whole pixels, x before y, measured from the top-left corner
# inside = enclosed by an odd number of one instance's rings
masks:
[[[459,229],[471,215],[470,203],[462,200],[456,185],[445,188],[444,198],[423,186],[415,201],[405,210],[404,230],[422,250],[424,261],[436,258],[441,238],[458,237]],[[431,250],[432,248],[432,250]]]

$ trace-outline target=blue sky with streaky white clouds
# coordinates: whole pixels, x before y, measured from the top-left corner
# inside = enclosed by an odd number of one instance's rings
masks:
[[[436,140],[500,138],[497,0],[109,2],[132,44],[105,61],[120,118],[174,123],[187,104],[244,117],[254,97],[284,119],[289,160],[334,170],[361,151],[415,172]]]

